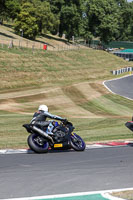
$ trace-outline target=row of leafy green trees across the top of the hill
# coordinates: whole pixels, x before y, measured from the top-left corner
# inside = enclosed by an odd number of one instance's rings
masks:
[[[133,3],[127,0],[0,0],[3,19],[12,19],[15,32],[29,39],[51,33],[133,41]]]

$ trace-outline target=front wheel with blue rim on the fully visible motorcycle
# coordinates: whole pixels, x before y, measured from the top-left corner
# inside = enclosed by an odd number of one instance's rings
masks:
[[[71,134],[70,144],[75,151],[84,151],[86,147],[83,139],[76,133]]]

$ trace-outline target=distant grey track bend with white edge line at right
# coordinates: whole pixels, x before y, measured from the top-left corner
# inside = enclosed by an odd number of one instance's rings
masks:
[[[105,81],[104,85],[115,94],[133,99],[133,75]]]

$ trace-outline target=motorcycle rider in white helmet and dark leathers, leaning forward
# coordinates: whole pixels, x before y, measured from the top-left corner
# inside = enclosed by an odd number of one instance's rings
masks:
[[[42,132],[44,130],[43,127],[47,127],[50,124],[50,121],[46,121],[47,117],[51,119],[63,121],[64,123],[67,122],[67,119],[64,119],[60,116],[52,115],[51,113],[49,113],[48,107],[46,105],[40,105],[38,107],[38,111],[34,113],[30,124],[33,126],[34,130],[36,130],[37,132]],[[46,133],[44,132],[42,134],[46,134]]]

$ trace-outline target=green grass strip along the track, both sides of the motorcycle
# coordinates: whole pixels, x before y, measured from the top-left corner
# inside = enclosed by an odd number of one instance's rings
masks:
[[[28,133],[22,124],[29,123],[31,115],[0,114],[0,148],[27,148]],[[117,118],[72,118],[75,132],[86,142],[124,140],[133,134],[125,127],[126,119]]]

